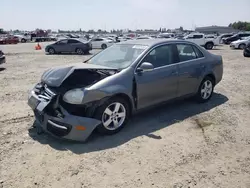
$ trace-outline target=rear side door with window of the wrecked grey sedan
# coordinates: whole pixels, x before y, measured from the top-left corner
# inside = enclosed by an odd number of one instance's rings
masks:
[[[176,44],[179,57],[179,85],[178,97],[193,94],[199,85],[202,74],[201,62],[204,61],[203,53],[192,44]]]

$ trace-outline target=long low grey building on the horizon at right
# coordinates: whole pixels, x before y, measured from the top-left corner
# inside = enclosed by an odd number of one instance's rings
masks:
[[[234,29],[232,27],[226,26],[208,26],[208,27],[197,27],[195,29],[196,32],[205,33],[205,34],[223,34],[223,33],[236,33],[239,30]]]

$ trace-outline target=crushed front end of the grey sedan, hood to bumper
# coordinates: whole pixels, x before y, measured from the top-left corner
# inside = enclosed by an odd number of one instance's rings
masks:
[[[93,116],[95,109],[106,98],[103,92],[91,91],[87,87],[115,73],[115,69],[94,65],[50,69],[30,93],[28,104],[46,132],[60,138],[85,141],[101,123]],[[65,102],[65,93],[75,88],[82,88],[89,101],[83,100],[77,105]]]

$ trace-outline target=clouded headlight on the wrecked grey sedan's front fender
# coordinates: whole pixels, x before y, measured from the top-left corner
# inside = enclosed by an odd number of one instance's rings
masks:
[[[70,104],[81,104],[84,97],[84,91],[82,89],[72,89],[67,91],[63,100]]]

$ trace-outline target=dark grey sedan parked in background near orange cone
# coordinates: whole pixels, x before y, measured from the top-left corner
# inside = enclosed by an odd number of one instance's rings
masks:
[[[62,39],[46,46],[45,52],[56,53],[77,53],[79,55],[88,54],[92,50],[91,43],[82,39]]]

